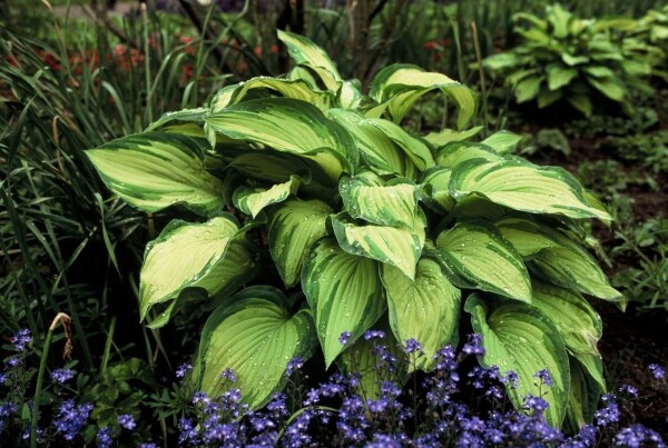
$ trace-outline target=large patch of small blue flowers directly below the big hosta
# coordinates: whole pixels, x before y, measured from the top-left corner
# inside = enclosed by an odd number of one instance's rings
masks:
[[[340,341],[350,342],[344,333]],[[622,386],[619,394],[603,397],[595,425],[586,426],[572,437],[551,427],[544,417],[546,396],[550,394],[549,371],[536,372],[539,396],[529,395],[520,410],[509,410],[505,387],[517,388],[515,372],[501,372],[498,367],[473,367],[462,372],[465,358],[484,355],[480,336],[469,337],[460,354],[451,346],[439,350],[435,369],[424,376],[420,390],[402,392],[387,371],[400,367],[397,357],[382,342],[382,331],[367,331],[363,339],[374,347],[377,360],[377,394],[363,394],[369,387],[358,375],[334,374],[325,382],[307,390],[276,394],[265,409],[249,411],[240,405],[240,394],[229,389],[218,398],[196,392],[193,414],[179,422],[179,442],[189,446],[365,446],[365,447],[592,447],[617,444],[630,447],[665,447],[660,436],[635,425],[617,430],[625,400],[635,399],[636,388]],[[423,355],[415,340],[405,342],[409,356]],[[298,377],[304,360],[287,365],[287,375]],[[465,374],[460,377],[460,374]],[[230,371],[224,378],[235,378]],[[462,378],[466,380],[462,384]],[[288,381],[298,385],[299,381]],[[465,387],[464,387],[465,386]],[[462,390],[472,390],[487,400],[470,400]],[[302,397],[302,398],[299,398]],[[422,398],[415,398],[422,397]],[[469,399],[464,399],[469,398]],[[288,409],[287,402],[292,404]],[[468,405],[475,402],[477,405]],[[296,410],[291,415],[291,410]],[[610,432],[610,429],[615,428]],[[607,437],[607,439],[606,439]]]

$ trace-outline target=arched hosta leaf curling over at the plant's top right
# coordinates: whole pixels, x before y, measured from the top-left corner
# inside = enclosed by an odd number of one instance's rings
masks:
[[[456,103],[456,127],[463,129],[478,109],[475,93],[444,74],[411,64],[395,63],[375,76],[370,96],[381,106],[375,108],[373,116],[379,117],[386,110],[394,122],[400,122],[413,103],[433,89],[440,89]]]

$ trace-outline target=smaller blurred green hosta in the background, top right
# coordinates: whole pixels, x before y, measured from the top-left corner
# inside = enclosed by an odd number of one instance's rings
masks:
[[[517,47],[483,61],[512,88],[518,103],[536,101],[546,108],[568,101],[589,117],[607,98],[627,112],[633,90],[651,92],[646,79],[664,52],[628,34],[632,19],[590,19],[573,16],[559,4],[546,8],[544,19],[518,13]]]

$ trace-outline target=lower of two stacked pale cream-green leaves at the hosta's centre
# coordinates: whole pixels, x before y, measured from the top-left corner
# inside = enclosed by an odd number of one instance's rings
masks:
[[[423,217],[420,215],[416,215],[413,229],[358,226],[346,219],[346,213],[332,217],[332,227],[338,245],[346,252],[393,265],[413,279],[425,238]]]

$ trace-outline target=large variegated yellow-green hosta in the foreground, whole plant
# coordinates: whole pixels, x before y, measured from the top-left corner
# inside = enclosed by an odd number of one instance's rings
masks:
[[[511,156],[510,132],[465,141],[477,131],[464,130],[477,109],[465,86],[394,64],[362,92],[312,42],[279,38],[296,61],[286,78],[229,86],[88,151],[130,205],[199,216],[148,243],[139,289],[151,327],[213,310],[197,387],[219,392],[232,368],[258,408],[288,360],[322,352],[326,367],[361,370],[374,396],[366,330],[416,339],[425,356],[412,368],[429,371],[471,319],[480,362],[519,374],[515,406],[549,369],[549,421],[590,419],[605,382],[601,322],[583,295],[623,300],[581,246],[579,222],[609,220],[603,207],[562,169]],[[458,130],[410,135],[402,120],[434,90],[456,104]]]

